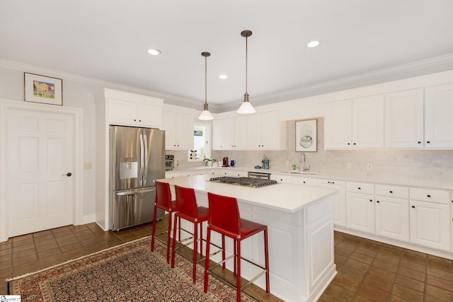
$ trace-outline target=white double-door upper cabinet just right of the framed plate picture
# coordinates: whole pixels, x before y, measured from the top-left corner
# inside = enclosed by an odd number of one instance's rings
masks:
[[[384,97],[373,95],[329,103],[325,149],[384,147]]]

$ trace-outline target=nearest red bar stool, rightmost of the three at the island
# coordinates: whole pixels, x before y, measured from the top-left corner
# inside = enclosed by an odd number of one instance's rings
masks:
[[[226,197],[217,194],[207,193],[209,202],[209,213],[207,219],[207,238],[206,238],[206,258],[205,258],[205,293],[207,293],[208,272],[217,265],[222,264],[225,268],[226,260],[234,257],[234,274],[236,274],[236,290],[237,301],[241,301],[241,289],[243,289],[251,282],[255,281],[262,274],[265,274],[266,293],[270,293],[269,289],[269,252],[268,252],[268,226],[246,219],[241,219],[239,216],[239,207],[236,198]],[[222,262],[219,262],[210,267],[210,244],[211,244],[211,231],[216,231],[222,234]],[[241,241],[249,238],[257,233],[263,231],[264,233],[264,255],[265,267],[262,267],[254,262],[246,260],[247,262],[256,265],[263,269],[256,277],[251,279],[247,284],[241,287]],[[225,236],[234,240],[234,255],[225,259]],[[214,274],[214,272],[210,272]],[[220,277],[217,275],[217,277]],[[220,277],[223,279],[222,277]],[[225,280],[226,281],[226,280]],[[228,281],[226,281],[228,282]],[[228,282],[229,283],[229,282]]]

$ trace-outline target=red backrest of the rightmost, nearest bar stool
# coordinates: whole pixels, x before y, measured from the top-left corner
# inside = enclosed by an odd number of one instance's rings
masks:
[[[209,211],[207,223],[212,229],[219,228],[230,237],[240,234],[241,219],[239,216],[238,201],[234,197],[226,197],[208,192]]]

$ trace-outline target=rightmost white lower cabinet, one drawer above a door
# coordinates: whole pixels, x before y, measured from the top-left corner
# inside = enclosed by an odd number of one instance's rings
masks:
[[[450,251],[449,192],[411,188],[411,243]]]

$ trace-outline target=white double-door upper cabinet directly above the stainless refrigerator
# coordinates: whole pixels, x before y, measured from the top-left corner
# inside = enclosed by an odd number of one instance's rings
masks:
[[[108,123],[135,127],[161,128],[162,107],[130,100],[107,99]]]

